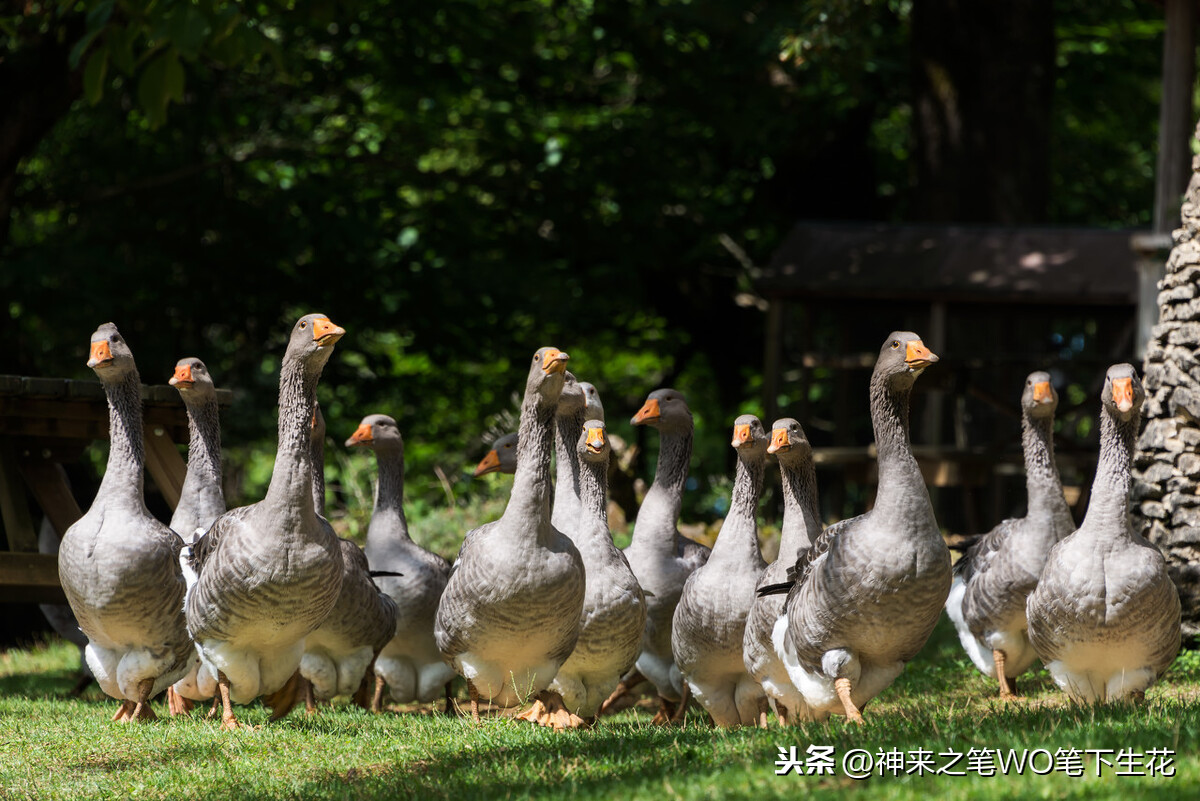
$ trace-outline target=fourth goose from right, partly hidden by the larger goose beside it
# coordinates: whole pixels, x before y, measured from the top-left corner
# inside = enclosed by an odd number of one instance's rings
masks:
[[[784,489],[784,523],[780,526],[779,556],[767,565],[758,586],[776,584],[787,578],[787,568],[821,536],[821,516],[817,510],[817,474],[812,463],[812,445],[799,422],[791,417],[776,420],[772,426],[768,453],[779,460]],[[742,643],[746,671],[762,685],[767,697],[775,701],[779,722],[788,725],[805,721],[809,705],[792,683],[787,668],[775,654],[772,633],[775,621],[784,614],[782,595],[756,595],[746,615],[746,633]],[[758,725],[767,721],[760,717]]]

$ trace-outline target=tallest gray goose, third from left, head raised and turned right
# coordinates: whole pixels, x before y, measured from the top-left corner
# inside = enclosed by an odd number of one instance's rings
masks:
[[[217,676],[222,728],[239,724],[232,703],[276,697],[295,703],[304,642],[342,586],[341,544],[312,496],[310,438],[320,373],[344,330],[324,314],[292,329],[280,372],[278,451],[266,498],[218,517],[197,541],[199,573],[187,626]]]

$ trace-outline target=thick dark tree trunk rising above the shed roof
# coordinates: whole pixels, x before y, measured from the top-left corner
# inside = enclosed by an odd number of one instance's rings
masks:
[[[913,1],[919,219],[1045,219],[1052,6],[1045,0]]]

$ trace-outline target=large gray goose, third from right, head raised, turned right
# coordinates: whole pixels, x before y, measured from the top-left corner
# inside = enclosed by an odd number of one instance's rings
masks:
[[[862,723],[859,709],[925,644],[950,590],[950,552],[908,444],[910,395],[935,361],[916,333],[883,343],[871,374],[875,506],[826,529],[790,572],[775,651],[817,718]]]

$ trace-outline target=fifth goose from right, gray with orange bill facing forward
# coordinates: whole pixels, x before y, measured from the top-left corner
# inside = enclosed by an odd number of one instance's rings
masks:
[[[713,553],[684,584],[671,648],[691,694],[722,728],[766,715],[767,697],[745,668],[743,640],[755,585],[767,564],[758,552],[758,499],[770,440],[754,415],[733,422],[737,472],[730,511]]]

